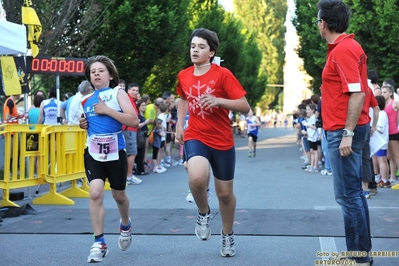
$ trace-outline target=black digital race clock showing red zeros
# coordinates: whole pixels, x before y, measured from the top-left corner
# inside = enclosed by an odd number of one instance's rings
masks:
[[[32,74],[84,76],[86,61],[87,58],[27,57],[28,72]]]

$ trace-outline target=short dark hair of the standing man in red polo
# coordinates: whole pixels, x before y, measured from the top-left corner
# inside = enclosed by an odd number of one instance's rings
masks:
[[[344,33],[348,29],[351,12],[342,0],[320,0],[317,7],[319,19],[326,22],[329,31]]]

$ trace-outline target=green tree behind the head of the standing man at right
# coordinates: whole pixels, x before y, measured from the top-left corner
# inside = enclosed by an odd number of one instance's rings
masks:
[[[347,33],[354,33],[368,59],[369,69],[377,70],[380,81],[393,78],[399,81],[396,62],[399,46],[394,36],[399,34],[399,7],[395,0],[347,0],[351,20]],[[317,3],[295,0],[294,26],[300,36],[299,57],[304,60],[306,72],[313,77],[313,90],[321,85],[321,72],[325,64],[327,44],[321,40],[318,28],[312,24],[317,17]]]

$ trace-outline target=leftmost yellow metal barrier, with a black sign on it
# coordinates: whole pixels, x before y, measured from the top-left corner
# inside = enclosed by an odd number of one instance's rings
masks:
[[[3,199],[0,206],[19,207],[10,201],[10,190],[45,184],[44,169],[41,166],[40,141],[43,125],[0,125],[4,137],[4,177],[0,179]],[[13,159],[11,162],[11,158]],[[37,172],[35,165],[37,161]]]

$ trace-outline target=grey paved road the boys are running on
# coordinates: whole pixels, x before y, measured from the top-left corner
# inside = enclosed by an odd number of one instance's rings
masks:
[[[247,139],[235,138],[235,257],[220,256],[221,222],[213,182],[212,237],[199,241],[192,218],[195,205],[185,200],[187,175],[182,166],[175,166],[163,174],[141,176],[140,185],[127,187],[134,234],[126,252],[117,246],[119,217],[106,191],[110,252],[102,265],[314,265],[329,257],[317,255],[344,251],[332,177],[301,170],[295,138],[293,130],[284,127],[261,130],[256,158],[248,158]],[[379,189],[368,200],[374,251],[399,249],[398,199],[397,190]],[[72,206],[32,205],[36,216],[5,218],[0,223],[0,265],[88,265],[88,200],[74,200]],[[321,251],[325,253],[317,254]],[[399,259],[374,257],[374,265],[396,266]]]

